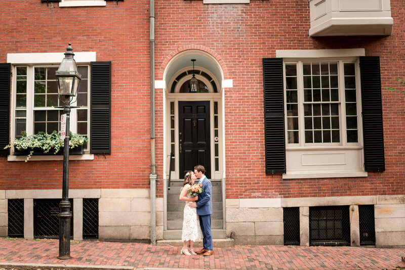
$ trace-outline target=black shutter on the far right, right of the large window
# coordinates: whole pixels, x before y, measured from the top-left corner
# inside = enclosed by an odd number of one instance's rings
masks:
[[[385,171],[380,58],[360,57],[361,105],[366,171]]]

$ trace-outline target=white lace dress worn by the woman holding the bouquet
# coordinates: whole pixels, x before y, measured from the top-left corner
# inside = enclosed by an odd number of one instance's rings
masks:
[[[185,186],[187,186],[187,188],[190,187],[189,184],[186,184]],[[187,197],[190,198],[191,196],[187,194]],[[195,241],[203,238],[203,234],[201,234],[201,229],[199,227],[197,209],[189,207],[188,203],[189,201],[186,201],[186,205],[184,206],[181,241]]]

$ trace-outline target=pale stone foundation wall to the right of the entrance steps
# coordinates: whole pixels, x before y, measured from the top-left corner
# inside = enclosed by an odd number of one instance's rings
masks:
[[[227,199],[226,233],[235,245],[284,245],[284,207],[300,208],[300,244],[309,246],[309,208],[350,207],[351,246],[360,246],[358,205],[374,205],[376,247],[405,247],[405,195]]]

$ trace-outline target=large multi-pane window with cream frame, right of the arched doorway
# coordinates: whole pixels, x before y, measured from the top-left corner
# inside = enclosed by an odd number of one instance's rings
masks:
[[[358,142],[354,61],[285,64],[287,143]]]

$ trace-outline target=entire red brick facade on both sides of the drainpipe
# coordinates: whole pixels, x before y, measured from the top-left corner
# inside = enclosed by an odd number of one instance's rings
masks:
[[[7,53],[96,51],[112,61],[112,154],[70,162],[71,188],[147,188],[149,149],[148,1],[107,7],[52,8],[54,4],[3,1],[0,41]],[[251,0],[249,5],[203,5],[156,0],[156,80],[179,48],[209,48],[221,58],[225,79],[227,198],[291,198],[403,194],[405,95],[383,92],[386,171],[367,178],[282,180],[264,173],[262,58],[276,50],[365,48],[380,56],[383,87],[403,78],[404,4],[391,0],[391,36],[310,37],[306,0]],[[15,10],[18,8],[18,12]],[[73,18],[73,19],[71,19]],[[76,32],[65,28],[70,24]],[[48,25],[48,26],[46,26]],[[52,25],[52,26],[49,26]],[[136,98],[135,98],[136,97]],[[157,194],[163,189],[163,97],[156,91]],[[135,123],[135,125],[134,125]],[[60,188],[62,162],[7,162],[0,157],[0,189]],[[40,172],[40,173],[38,173]],[[42,172],[42,173],[41,173]]]

